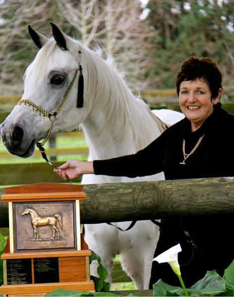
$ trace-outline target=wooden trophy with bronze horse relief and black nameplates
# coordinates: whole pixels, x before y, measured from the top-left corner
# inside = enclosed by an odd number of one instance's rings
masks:
[[[39,183],[4,188],[9,237],[2,295],[46,294],[56,288],[95,292],[91,251],[80,233],[81,185]]]

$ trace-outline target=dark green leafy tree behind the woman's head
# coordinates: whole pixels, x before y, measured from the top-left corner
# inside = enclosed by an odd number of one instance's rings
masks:
[[[160,0],[150,0],[148,7],[156,36],[153,42],[157,45],[155,87],[174,88],[180,64],[192,55],[211,57],[223,72],[224,84],[233,84],[232,1],[177,0],[162,5]],[[169,33],[160,25],[165,15],[170,20],[167,23]]]

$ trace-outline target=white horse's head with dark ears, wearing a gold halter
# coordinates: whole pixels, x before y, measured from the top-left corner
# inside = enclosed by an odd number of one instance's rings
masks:
[[[21,157],[33,154],[35,144],[48,135],[55,117],[52,134],[77,128],[89,112],[89,103],[83,102],[88,88],[83,83],[87,49],[51,25],[52,39],[29,26],[40,50],[24,74],[22,99],[0,127],[7,150]]]

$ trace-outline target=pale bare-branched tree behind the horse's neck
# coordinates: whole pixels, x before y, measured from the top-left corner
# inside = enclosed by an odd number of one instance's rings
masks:
[[[67,21],[81,34],[86,46],[98,43],[115,58],[117,67],[131,87],[148,84],[145,68],[150,45],[146,43],[150,29],[139,18],[139,0],[56,0]]]

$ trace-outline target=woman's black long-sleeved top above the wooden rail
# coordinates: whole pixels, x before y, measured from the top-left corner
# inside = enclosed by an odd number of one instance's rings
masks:
[[[190,131],[187,118],[168,128],[148,147],[135,154],[109,160],[95,160],[95,174],[111,176],[147,176],[164,171],[166,180],[220,177],[234,175],[234,115],[214,105],[214,112],[195,132]],[[203,139],[185,161],[182,142],[185,140],[185,153],[189,153]]]

